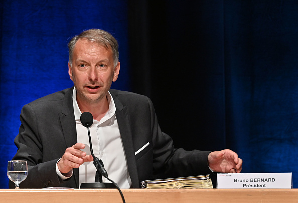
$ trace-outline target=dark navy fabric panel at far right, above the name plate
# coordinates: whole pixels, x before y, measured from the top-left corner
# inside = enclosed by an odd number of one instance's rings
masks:
[[[243,158],[243,172],[292,172],[297,188],[298,4],[228,2],[227,147]]]

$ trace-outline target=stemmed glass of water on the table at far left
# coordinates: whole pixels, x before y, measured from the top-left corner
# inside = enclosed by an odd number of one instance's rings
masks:
[[[7,164],[7,176],[19,189],[20,182],[26,179],[28,174],[27,161],[9,161]]]

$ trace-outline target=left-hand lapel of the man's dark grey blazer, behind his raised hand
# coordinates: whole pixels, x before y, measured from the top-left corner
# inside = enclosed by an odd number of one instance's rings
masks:
[[[66,147],[71,147],[72,145],[77,143],[77,130],[76,130],[76,123],[75,123],[75,117],[73,112],[72,92],[73,92],[73,88],[70,88],[65,93],[65,96],[63,99],[62,112],[59,114]],[[79,188],[78,168],[74,168],[73,173],[74,173],[76,187]]]

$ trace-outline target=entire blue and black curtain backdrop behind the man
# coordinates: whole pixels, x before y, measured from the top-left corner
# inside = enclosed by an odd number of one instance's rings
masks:
[[[0,188],[24,104],[68,88],[67,42],[90,28],[119,42],[112,88],[150,97],[176,147],[230,148],[243,173],[298,186],[298,2],[0,2]]]

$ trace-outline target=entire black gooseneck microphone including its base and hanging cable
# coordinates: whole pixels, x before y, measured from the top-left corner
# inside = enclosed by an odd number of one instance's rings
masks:
[[[84,115],[83,115],[84,114]],[[90,114],[90,115],[88,115]],[[83,118],[83,119],[82,119]],[[91,120],[92,118],[92,120]],[[123,193],[119,186],[108,177],[108,174],[104,168],[102,160],[97,158],[94,153],[93,153],[93,148],[92,148],[92,142],[91,142],[91,135],[90,135],[90,127],[93,124],[93,116],[89,112],[84,112],[81,115],[81,123],[87,127],[88,129],[88,136],[89,136],[89,144],[90,144],[90,152],[93,157],[93,164],[96,168],[96,174],[95,174],[95,182],[90,182],[90,183],[82,183],[80,186],[80,189],[87,189],[87,188],[92,188],[92,189],[103,189],[103,188],[117,188],[118,191],[120,192],[120,195],[122,197],[123,202],[125,203],[125,199],[123,196]],[[108,182],[102,182],[102,176],[111,181],[112,183]]]

